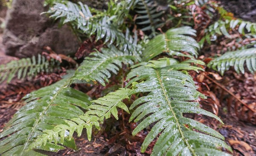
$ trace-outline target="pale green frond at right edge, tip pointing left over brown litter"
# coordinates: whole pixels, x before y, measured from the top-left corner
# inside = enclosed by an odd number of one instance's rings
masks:
[[[226,52],[224,55],[212,60],[207,64],[208,67],[224,74],[225,70],[228,70],[230,66],[234,66],[237,73],[244,74],[244,63],[251,73],[256,71],[256,50],[255,48],[237,50],[234,52]]]

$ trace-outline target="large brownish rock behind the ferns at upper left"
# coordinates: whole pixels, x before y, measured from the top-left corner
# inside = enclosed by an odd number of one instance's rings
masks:
[[[79,48],[79,41],[69,26],[58,23],[41,12],[47,11],[44,0],[13,0],[7,11],[6,29],[1,42],[6,54],[18,58],[31,57],[49,46],[58,54],[72,55]]]

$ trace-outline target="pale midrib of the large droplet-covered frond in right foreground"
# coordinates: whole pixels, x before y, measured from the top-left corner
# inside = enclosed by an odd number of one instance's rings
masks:
[[[164,94],[164,96],[165,96],[165,98],[166,98],[166,101],[167,101],[167,103],[168,103],[168,106],[170,107],[170,110],[171,110],[171,112],[172,112],[172,115],[173,115],[173,117],[175,118],[175,121],[176,121],[176,123],[177,123],[177,128],[178,128],[178,130],[179,130],[179,132],[180,132],[181,139],[186,143],[186,146],[187,146],[187,147],[189,148],[189,150],[192,152],[193,156],[197,156],[196,153],[195,153],[195,151],[192,149],[191,145],[189,144],[189,142],[187,142],[187,140],[185,139],[185,136],[184,136],[183,131],[182,131],[182,129],[181,129],[179,120],[178,120],[178,118],[177,118],[177,116],[176,116],[176,114],[175,114],[175,112],[174,112],[174,110],[173,110],[173,108],[172,108],[171,101],[170,101],[169,98],[168,98],[166,89],[165,89],[165,87],[164,87],[164,85],[163,85],[163,82],[162,82],[162,79],[161,79],[161,77],[160,77],[159,69],[156,69],[155,71],[156,71],[156,73],[157,73],[157,79],[158,79],[158,81],[159,81],[159,83],[160,83],[161,90],[163,91],[163,94]]]

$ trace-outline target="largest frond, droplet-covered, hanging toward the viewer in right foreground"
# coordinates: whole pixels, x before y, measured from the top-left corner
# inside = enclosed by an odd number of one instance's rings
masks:
[[[231,151],[220,133],[183,116],[183,113],[197,113],[215,118],[222,123],[218,116],[201,109],[197,102],[191,102],[199,96],[204,97],[196,90],[191,76],[166,68],[139,66],[128,74],[127,79],[131,78],[133,79],[128,85],[140,82],[135,86],[133,93],[149,92],[148,95],[134,101],[130,107],[137,107],[130,121],[141,121],[132,134],[136,135],[150,124],[156,123],[146,136],[141,152],[145,152],[148,145],[160,134],[152,156],[228,155],[217,150],[224,147]],[[211,144],[207,143],[207,139],[211,140]]]

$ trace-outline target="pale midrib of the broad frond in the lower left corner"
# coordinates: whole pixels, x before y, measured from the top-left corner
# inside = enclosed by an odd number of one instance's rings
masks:
[[[55,93],[55,95],[52,97],[51,101],[49,101],[47,107],[44,108],[44,110],[41,112],[40,116],[38,119],[36,119],[35,124],[33,125],[32,131],[29,133],[27,139],[26,139],[26,143],[24,144],[24,147],[22,149],[22,152],[20,153],[20,156],[23,155],[23,152],[26,150],[26,146],[29,143],[29,140],[32,137],[33,132],[35,131],[35,128],[37,127],[39,121],[41,120],[41,118],[43,116],[45,116],[44,113],[46,113],[46,111],[48,110],[48,108],[50,107],[50,105],[53,103],[53,101],[55,100],[55,98],[58,96],[58,94],[64,89],[64,87],[66,87],[68,84],[70,83],[70,78],[67,79],[67,81],[65,81],[65,83],[61,86],[61,88],[58,90],[58,92]]]

